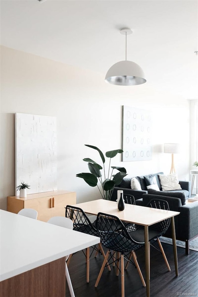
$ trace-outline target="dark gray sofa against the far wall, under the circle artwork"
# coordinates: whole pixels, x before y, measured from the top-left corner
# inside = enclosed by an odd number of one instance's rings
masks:
[[[161,183],[160,183],[160,179],[159,179],[159,175],[158,174],[164,174],[163,172],[158,172],[158,173],[154,173],[154,174],[149,174],[149,175],[144,175],[145,177],[152,177],[153,175],[155,175],[156,180],[157,180],[157,185],[160,189],[160,191],[162,191],[161,189]],[[135,200],[142,198],[143,194],[147,194],[147,187],[146,187],[146,182],[144,179],[144,176],[136,176],[136,179],[140,182],[141,185],[141,190],[132,190],[131,189],[131,178],[124,178],[122,180],[122,182],[119,185],[116,185],[114,187],[114,191],[112,193],[111,196],[111,200],[116,201],[117,200],[117,191],[118,190],[123,190],[124,194],[131,194],[135,197]],[[182,188],[182,190],[172,190],[172,191],[168,191],[168,192],[183,192],[186,196],[186,199],[189,197],[190,195],[190,191],[191,191],[191,183],[190,181],[179,181],[179,184]]]

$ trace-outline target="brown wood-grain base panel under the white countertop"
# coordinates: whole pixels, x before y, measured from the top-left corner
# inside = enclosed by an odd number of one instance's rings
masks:
[[[65,296],[65,257],[0,282],[0,296]]]

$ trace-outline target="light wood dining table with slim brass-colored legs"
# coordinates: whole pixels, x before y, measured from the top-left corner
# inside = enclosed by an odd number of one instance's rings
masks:
[[[150,259],[149,259],[149,226],[161,222],[167,218],[171,220],[173,252],[174,252],[174,266],[175,275],[178,273],[178,260],[177,260],[177,246],[175,237],[174,216],[179,215],[179,212],[155,209],[139,205],[125,204],[123,211],[118,210],[118,204],[109,200],[93,200],[84,203],[75,204],[73,206],[80,207],[85,213],[97,215],[99,212],[107,213],[118,217],[121,221],[134,223],[144,226],[144,241],[145,241],[145,268],[146,268],[146,293],[150,297]]]

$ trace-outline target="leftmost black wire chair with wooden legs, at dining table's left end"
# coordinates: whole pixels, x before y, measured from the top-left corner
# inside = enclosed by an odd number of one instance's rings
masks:
[[[87,215],[84,213],[84,211],[81,208],[67,205],[65,208],[65,217],[68,217],[73,221],[73,230],[79,231],[82,233],[86,233],[86,234],[90,234],[93,236],[98,236],[96,228],[93,226],[93,224],[90,222]],[[96,250],[97,253],[100,252],[103,255],[103,257],[105,258],[105,253],[101,246],[101,243],[98,243],[98,248],[96,245],[94,245],[93,251],[94,250]],[[93,251],[92,251],[92,253],[93,253]],[[84,253],[84,251],[83,251],[83,253]],[[92,253],[91,253],[91,255],[92,255]],[[73,254],[71,254],[67,260],[67,266],[69,265],[72,255]],[[89,282],[89,259],[91,257],[91,255],[89,253],[89,248],[86,248],[86,254],[84,253],[84,255],[86,257],[86,264],[87,264],[87,282]],[[96,256],[97,256],[97,254],[95,255],[95,257]],[[108,263],[107,263],[107,267],[109,270],[111,270]]]

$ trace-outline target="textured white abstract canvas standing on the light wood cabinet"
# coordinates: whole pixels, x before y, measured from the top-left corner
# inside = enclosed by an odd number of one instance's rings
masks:
[[[56,118],[15,114],[15,182],[27,194],[57,190]],[[19,191],[15,192],[19,196]]]

